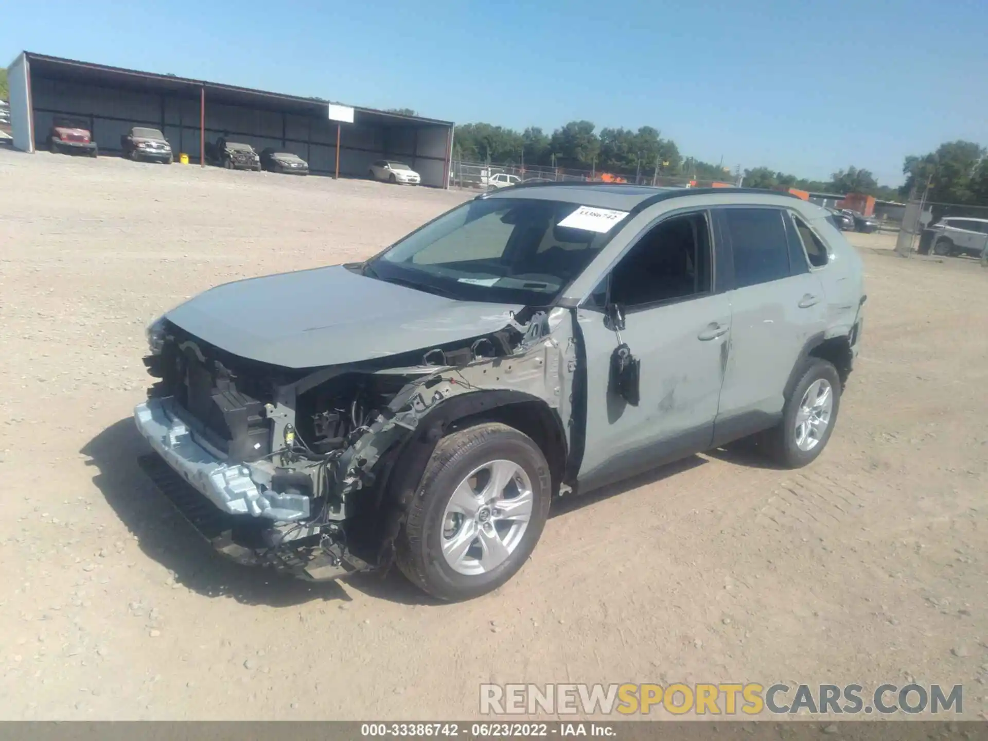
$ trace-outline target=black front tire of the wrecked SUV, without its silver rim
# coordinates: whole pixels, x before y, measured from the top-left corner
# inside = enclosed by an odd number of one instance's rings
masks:
[[[485,462],[507,459],[524,468],[532,483],[532,518],[505,561],[477,575],[453,570],[442,552],[444,515],[455,487]],[[398,568],[413,584],[441,600],[468,600],[492,592],[528,560],[548,517],[552,483],[545,456],[527,435],[488,422],[444,438],[429,459],[395,543]]]

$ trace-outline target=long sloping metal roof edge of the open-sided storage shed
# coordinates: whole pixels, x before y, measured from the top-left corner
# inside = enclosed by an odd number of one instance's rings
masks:
[[[190,95],[199,95],[200,90],[205,88],[207,101],[212,100],[234,105],[251,105],[277,111],[321,114],[323,116],[329,115],[328,108],[330,103],[338,103],[337,101],[325,101],[318,98],[305,98],[297,95],[272,93],[266,90],[255,90],[253,88],[226,85],[219,82],[209,82],[208,80],[197,80],[191,77],[179,77],[177,75],[159,74],[157,72],[142,72],[136,69],[95,64],[77,59],[39,54],[34,51],[25,51],[24,53],[31,63],[32,74],[47,78],[117,85],[147,92],[188,93]],[[349,106],[349,104],[344,103],[339,103],[339,105]],[[395,123],[404,122],[406,124],[453,126],[453,122],[442,121],[440,119],[404,116],[402,114],[378,111],[362,106],[350,107],[359,115],[359,119],[365,120],[365,123],[370,123],[371,121],[381,123],[384,120],[392,120]],[[355,123],[361,123],[359,119]]]

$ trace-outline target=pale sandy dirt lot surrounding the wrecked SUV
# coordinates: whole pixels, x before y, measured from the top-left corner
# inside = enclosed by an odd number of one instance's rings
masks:
[[[462,198],[0,151],[0,717],[465,718],[488,681],[915,679],[988,709],[988,271],[887,236],[857,240],[864,355],[805,470],[716,453],[560,503],[461,605],[214,557],[135,463],[144,325]]]

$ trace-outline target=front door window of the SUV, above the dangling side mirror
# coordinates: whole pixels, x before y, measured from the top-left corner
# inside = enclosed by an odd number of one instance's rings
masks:
[[[649,229],[617,263],[610,300],[630,309],[709,291],[709,228],[706,213],[699,212]]]

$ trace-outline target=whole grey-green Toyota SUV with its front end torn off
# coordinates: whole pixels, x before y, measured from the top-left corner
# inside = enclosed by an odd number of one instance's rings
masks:
[[[364,263],[212,288],[148,328],[142,465],[243,563],[484,594],[554,496],[741,438],[787,467],[823,451],[864,306],[828,215],[523,185]]]

